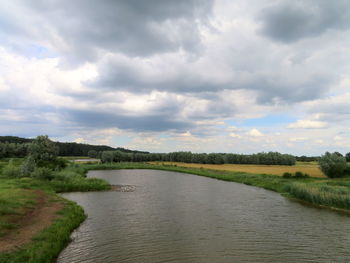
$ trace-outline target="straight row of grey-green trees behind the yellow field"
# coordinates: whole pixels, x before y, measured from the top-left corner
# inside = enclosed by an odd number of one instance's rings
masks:
[[[278,152],[256,154],[234,153],[123,153],[120,151],[103,151],[98,154],[101,161],[107,162],[184,162],[202,164],[266,164],[266,165],[295,165],[296,158],[290,154]]]

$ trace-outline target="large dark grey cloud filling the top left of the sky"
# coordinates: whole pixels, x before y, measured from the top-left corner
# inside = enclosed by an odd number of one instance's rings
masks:
[[[18,6],[21,19],[13,10]],[[0,19],[0,27],[7,38],[45,39],[70,61],[94,61],[101,51],[130,56],[195,51],[201,42],[197,22],[206,21],[211,9],[212,0],[18,0],[0,12],[14,14]]]

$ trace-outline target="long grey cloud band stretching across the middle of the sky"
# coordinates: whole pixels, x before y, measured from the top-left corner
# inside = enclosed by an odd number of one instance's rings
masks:
[[[263,52],[263,51],[261,51]],[[240,56],[244,57],[245,54]],[[259,56],[268,61],[266,54]],[[99,65],[99,76],[86,82],[92,90],[128,91],[135,94],[147,94],[151,91],[172,92],[183,95],[191,95],[212,101],[209,110],[213,115],[221,110],[222,116],[231,114],[232,109],[220,106],[221,97],[218,92],[223,90],[251,90],[257,92],[257,102],[260,104],[297,103],[321,97],[329,89],[329,86],[337,81],[332,72],[323,68],[317,70],[310,65],[281,67],[283,57],[276,64],[254,61],[250,68],[241,70],[237,65],[232,65],[232,73],[235,78],[218,81],[211,76],[211,72],[202,74],[198,72],[196,62],[191,66],[175,66],[170,70],[162,69],[163,64],[147,64],[140,61],[114,58],[105,60]],[[243,60],[243,59],[242,59]],[[282,60],[282,61],[281,61]],[[265,66],[264,66],[265,65]],[[195,70],[188,70],[195,68]],[[263,69],[261,69],[263,68]],[[206,69],[203,68],[203,71]],[[157,72],[157,73],[154,73]],[[226,73],[229,74],[229,73]],[[249,74],[249,77],[243,77]],[[233,107],[233,106],[231,106]]]

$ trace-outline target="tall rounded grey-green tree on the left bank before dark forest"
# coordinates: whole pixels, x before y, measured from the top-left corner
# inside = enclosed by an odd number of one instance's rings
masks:
[[[55,161],[58,154],[58,147],[47,135],[40,135],[30,143],[29,155],[37,163],[41,161]]]

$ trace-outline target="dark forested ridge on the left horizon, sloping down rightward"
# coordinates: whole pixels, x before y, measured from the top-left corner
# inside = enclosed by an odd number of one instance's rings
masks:
[[[21,138],[17,136],[0,136],[0,158],[24,157],[27,155],[28,144],[34,139]],[[75,142],[55,142],[58,146],[59,156],[88,156],[89,152],[120,151],[123,153],[148,153],[133,151],[124,148],[113,148],[106,145],[91,145]]]

